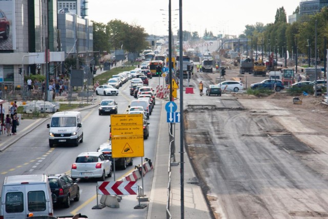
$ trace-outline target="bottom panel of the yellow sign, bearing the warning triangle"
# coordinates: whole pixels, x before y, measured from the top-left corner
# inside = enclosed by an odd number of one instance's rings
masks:
[[[113,136],[112,157],[144,156],[144,135]]]

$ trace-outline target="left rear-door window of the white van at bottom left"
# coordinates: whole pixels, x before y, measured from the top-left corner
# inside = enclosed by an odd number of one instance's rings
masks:
[[[24,211],[23,192],[8,192],[6,194],[6,212],[18,213]]]

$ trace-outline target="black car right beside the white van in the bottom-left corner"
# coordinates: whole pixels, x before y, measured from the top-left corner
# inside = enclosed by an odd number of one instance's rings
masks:
[[[77,202],[80,199],[80,188],[69,175],[48,175],[48,181],[52,194],[57,196],[56,204],[64,204],[66,208],[71,206],[71,199]]]

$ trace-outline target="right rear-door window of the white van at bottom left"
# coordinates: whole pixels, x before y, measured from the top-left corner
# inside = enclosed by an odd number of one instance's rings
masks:
[[[27,193],[28,210],[33,211],[45,211],[46,195],[44,191],[30,191]]]

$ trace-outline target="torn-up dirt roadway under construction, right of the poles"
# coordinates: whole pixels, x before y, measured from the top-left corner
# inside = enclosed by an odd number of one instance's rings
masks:
[[[244,83],[265,77],[239,75]],[[194,73],[189,85],[215,83]],[[246,82],[247,81],[247,82]],[[186,86],[186,84],[184,84]],[[275,92],[186,95],[186,150],[213,218],[328,218],[328,106]]]

